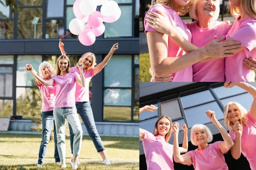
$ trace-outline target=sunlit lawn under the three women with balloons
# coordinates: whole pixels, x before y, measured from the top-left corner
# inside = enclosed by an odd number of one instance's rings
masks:
[[[139,138],[101,136],[110,166],[102,164],[89,136],[83,136],[79,156],[81,170],[139,170]],[[38,168],[41,135],[0,133],[0,170],[61,170],[54,160],[54,142],[50,141],[42,167]],[[66,138],[67,170],[72,159],[70,140]]]

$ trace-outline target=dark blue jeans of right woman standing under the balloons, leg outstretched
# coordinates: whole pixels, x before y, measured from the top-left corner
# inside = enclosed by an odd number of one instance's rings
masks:
[[[89,133],[90,138],[93,140],[93,144],[97,150],[97,152],[101,152],[105,150],[102,140],[99,136],[99,133],[96,129],[96,125],[93,118],[93,111],[90,107],[89,102],[76,102],[76,110],[77,113],[81,116],[84,125]],[[70,124],[68,124],[70,129],[70,146],[71,146],[71,153],[73,153],[73,140],[74,140],[74,133]]]

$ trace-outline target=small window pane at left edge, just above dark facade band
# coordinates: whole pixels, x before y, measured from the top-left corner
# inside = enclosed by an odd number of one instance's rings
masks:
[[[14,21],[0,21],[0,40],[13,39]]]

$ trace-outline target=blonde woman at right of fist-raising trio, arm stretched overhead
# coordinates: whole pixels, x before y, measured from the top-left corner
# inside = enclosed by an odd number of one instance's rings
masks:
[[[256,88],[245,82],[225,82],[224,87],[232,88],[235,85],[247,91],[254,100],[248,112],[237,102],[229,102],[224,108],[225,125],[230,129],[229,134],[234,141],[231,154],[239,159],[243,153],[250,168],[256,170]]]

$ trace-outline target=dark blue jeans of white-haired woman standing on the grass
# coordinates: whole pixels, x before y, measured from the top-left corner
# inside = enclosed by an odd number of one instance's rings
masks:
[[[54,158],[55,162],[60,162],[60,157],[58,155],[58,148],[57,148],[57,135],[56,135],[56,128],[55,128],[55,123],[54,123],[54,118],[53,118],[53,111],[46,111],[43,112],[42,116],[42,126],[43,126],[43,138],[41,141],[41,145],[39,148],[39,158],[38,158],[38,164],[43,164],[44,161],[44,156],[46,153],[46,147],[47,144],[49,143],[50,140],[50,134],[52,131],[52,124],[54,124]]]

